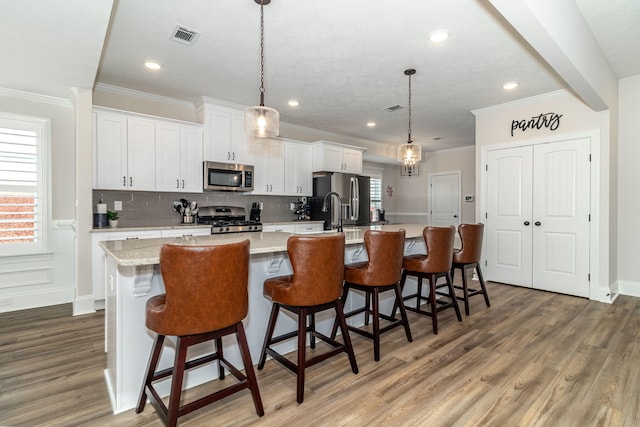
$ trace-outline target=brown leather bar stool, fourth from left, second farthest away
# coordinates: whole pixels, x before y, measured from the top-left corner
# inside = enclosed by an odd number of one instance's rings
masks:
[[[404,257],[402,271],[402,279],[400,288],[404,289],[407,276],[415,276],[418,279],[418,288],[415,294],[404,297],[405,301],[409,299],[416,300],[416,306],[406,306],[407,310],[424,314],[431,317],[433,324],[433,333],[438,333],[438,312],[447,308],[453,308],[456,312],[458,321],[462,321],[460,308],[454,293],[451,281],[451,265],[453,261],[453,242],[455,237],[455,227],[425,227],[422,231],[424,241],[427,245],[427,255],[407,255]],[[436,282],[439,278],[446,279],[446,287],[448,293],[436,293]],[[422,279],[429,280],[429,295],[422,295]],[[437,298],[443,296],[443,298]],[[429,301],[430,311],[420,308],[422,301]],[[395,308],[393,310],[395,314]]]

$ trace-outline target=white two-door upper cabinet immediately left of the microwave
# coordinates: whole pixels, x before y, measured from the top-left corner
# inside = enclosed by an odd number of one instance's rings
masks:
[[[202,128],[156,124],[156,190],[202,192]]]

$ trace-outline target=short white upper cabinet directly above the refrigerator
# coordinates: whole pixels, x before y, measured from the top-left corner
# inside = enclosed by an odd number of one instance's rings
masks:
[[[343,172],[362,174],[364,148],[336,144],[328,141],[314,142],[313,172]]]

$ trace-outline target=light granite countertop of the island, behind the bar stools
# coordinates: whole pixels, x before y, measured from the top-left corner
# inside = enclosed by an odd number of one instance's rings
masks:
[[[377,225],[362,227],[345,227],[345,243],[347,245],[362,243],[364,232],[367,230],[397,231],[404,228],[407,238],[422,237],[423,224],[397,224]],[[333,234],[335,231],[325,231],[305,236],[323,236]],[[168,237],[161,239],[134,239],[113,240],[100,242],[107,256],[111,257],[118,265],[137,266],[152,265],[160,262],[160,247],[165,244],[175,245],[224,245],[237,243],[245,239],[251,241],[250,253],[266,254],[283,252],[287,250],[287,239],[292,233],[266,232],[266,233],[230,233],[207,236]]]

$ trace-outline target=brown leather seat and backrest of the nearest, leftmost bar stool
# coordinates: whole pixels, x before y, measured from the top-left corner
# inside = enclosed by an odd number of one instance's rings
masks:
[[[160,271],[166,302],[147,311],[147,327],[162,335],[195,335],[247,316],[249,240],[216,246],[164,245]]]

